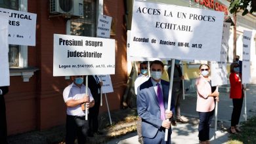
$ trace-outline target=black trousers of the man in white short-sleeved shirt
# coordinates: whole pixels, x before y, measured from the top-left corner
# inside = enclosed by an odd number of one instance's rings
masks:
[[[85,144],[87,138],[88,122],[85,117],[67,115],[66,118],[66,144],[77,143]]]

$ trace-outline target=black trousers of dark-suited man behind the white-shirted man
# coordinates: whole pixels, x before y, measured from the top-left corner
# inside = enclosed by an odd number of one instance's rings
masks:
[[[100,111],[100,100],[95,101],[95,106],[89,109],[89,132],[91,134],[98,132],[98,113]]]

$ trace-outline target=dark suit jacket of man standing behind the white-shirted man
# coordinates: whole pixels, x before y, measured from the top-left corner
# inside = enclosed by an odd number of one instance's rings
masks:
[[[97,84],[93,75],[88,75],[88,87],[91,90],[91,94],[93,95],[95,102],[100,101],[100,94],[98,94],[98,88],[100,88],[101,86],[99,83]]]

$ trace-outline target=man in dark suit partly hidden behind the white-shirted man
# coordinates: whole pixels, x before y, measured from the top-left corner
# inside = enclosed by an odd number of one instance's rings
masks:
[[[102,134],[98,132],[98,113],[100,111],[100,88],[103,85],[103,82],[100,81],[97,75],[88,76],[88,87],[91,90],[91,94],[95,99],[95,106],[89,109],[89,131],[88,136],[93,137],[94,134]]]

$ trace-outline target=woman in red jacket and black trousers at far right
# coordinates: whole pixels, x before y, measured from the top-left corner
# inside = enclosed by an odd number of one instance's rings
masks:
[[[230,65],[230,98],[233,102],[233,111],[231,116],[231,127],[230,133],[236,134],[236,132],[241,132],[238,128],[238,123],[242,111],[244,93],[242,86],[242,75],[240,73],[240,65],[236,62],[231,63]]]

